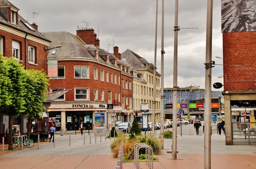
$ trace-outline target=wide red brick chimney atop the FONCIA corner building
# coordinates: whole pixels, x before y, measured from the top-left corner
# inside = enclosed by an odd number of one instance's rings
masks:
[[[87,45],[97,45],[95,44],[94,29],[92,28],[76,30],[76,35],[78,35]]]

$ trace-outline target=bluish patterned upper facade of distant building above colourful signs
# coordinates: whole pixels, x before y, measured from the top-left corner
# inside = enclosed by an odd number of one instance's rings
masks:
[[[223,97],[221,94],[222,91],[211,91],[211,98],[214,97]],[[164,92],[164,104],[173,103],[173,92]],[[177,103],[181,102],[188,102],[192,100],[200,100],[204,99],[205,91],[193,91],[193,92],[184,92],[178,91],[177,92]]]

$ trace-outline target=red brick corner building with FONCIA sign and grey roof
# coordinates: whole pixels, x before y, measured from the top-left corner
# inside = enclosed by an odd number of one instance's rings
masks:
[[[131,107],[133,96],[132,88],[128,87],[133,82],[133,76],[127,71],[129,66],[99,47],[100,41],[93,29],[79,29],[77,35],[69,32],[42,34],[52,41],[51,46],[61,45],[61,48],[48,50],[48,67],[58,65],[55,70],[47,70],[51,75],[49,90],[71,89],[49,108],[49,117],[55,120],[57,130],[78,129],[81,121],[90,129],[103,129],[95,120],[99,115],[104,116],[103,127],[111,129],[122,120],[121,112],[126,113],[124,121],[132,120],[133,110],[127,108]]]

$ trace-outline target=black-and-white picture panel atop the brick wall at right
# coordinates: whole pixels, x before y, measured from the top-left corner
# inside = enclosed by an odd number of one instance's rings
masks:
[[[222,32],[256,30],[255,0],[221,0]]]

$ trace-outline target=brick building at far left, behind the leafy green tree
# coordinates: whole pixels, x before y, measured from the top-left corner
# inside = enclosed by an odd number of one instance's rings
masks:
[[[41,70],[46,68],[45,47],[50,41],[39,31],[36,23],[30,25],[19,14],[19,9],[7,0],[0,1],[0,52],[4,57],[14,57],[25,69]],[[13,117],[23,133],[26,131],[26,120]],[[0,115],[0,131],[8,126],[8,116]]]

